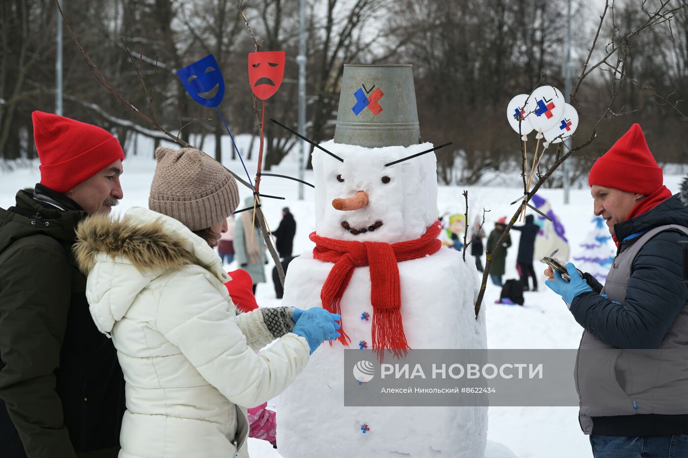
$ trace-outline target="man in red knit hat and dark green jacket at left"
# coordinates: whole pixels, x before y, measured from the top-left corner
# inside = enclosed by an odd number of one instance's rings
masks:
[[[125,155],[100,127],[32,118],[41,182],[0,208],[0,457],[116,457],[125,384],[72,245],[79,221],[122,199]]]

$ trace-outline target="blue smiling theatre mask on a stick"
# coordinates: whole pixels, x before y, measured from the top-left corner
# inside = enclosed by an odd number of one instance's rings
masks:
[[[177,70],[177,76],[189,96],[204,107],[214,108],[222,102],[224,78],[213,54]]]

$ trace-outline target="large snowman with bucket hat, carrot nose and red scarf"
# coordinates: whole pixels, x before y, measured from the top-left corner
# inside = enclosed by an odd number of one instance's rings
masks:
[[[334,140],[314,149],[312,252],[283,305],[342,316],[278,400],[284,458],[484,455],[486,407],[345,407],[345,349],[485,348],[475,263],[442,247],[436,156],[420,140],[411,65],[345,65]],[[346,371],[351,376],[350,371]]]

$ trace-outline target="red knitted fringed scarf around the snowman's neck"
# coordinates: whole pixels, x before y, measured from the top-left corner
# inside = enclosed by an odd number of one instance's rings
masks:
[[[341,314],[342,296],[354,274],[354,268],[369,265],[370,303],[373,305],[372,348],[410,349],[401,318],[401,287],[397,263],[422,258],[442,248],[442,242],[437,238],[440,229],[437,221],[420,239],[391,244],[328,239],[312,232],[310,239],[316,244],[313,257],[334,263],[320,292],[323,308],[331,313]],[[351,339],[344,332],[344,323],[339,332],[341,337],[338,340],[348,346]]]

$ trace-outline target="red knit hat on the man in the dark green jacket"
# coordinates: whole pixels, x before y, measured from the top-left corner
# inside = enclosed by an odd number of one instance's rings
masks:
[[[41,160],[41,184],[65,193],[116,160],[124,160],[120,142],[92,124],[43,111],[31,113]]]

